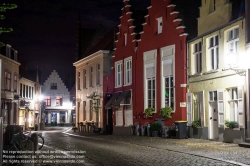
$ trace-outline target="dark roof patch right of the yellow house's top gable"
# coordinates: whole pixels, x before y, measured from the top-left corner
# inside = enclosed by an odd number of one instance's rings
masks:
[[[245,16],[245,0],[230,0],[232,3],[232,16],[230,21]]]

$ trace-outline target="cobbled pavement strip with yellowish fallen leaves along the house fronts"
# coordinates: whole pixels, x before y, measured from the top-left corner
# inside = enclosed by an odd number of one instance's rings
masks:
[[[238,144],[223,143],[202,139],[169,139],[162,137],[147,136],[116,136],[103,135],[87,132],[73,132],[71,128],[65,134],[104,140],[109,142],[119,142],[122,144],[132,144],[148,148],[165,149],[180,153],[187,153],[196,156],[216,159],[220,161],[229,161],[232,164],[250,165],[250,149],[239,147]]]

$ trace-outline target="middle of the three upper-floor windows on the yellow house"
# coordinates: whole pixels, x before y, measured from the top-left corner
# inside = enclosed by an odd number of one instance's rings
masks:
[[[216,43],[217,39],[217,43]],[[208,64],[209,70],[219,69],[219,36],[215,35],[208,40]]]

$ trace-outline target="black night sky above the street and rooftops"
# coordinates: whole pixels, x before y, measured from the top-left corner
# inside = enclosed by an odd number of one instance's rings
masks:
[[[41,83],[56,70],[62,80],[74,79],[76,21],[80,13],[82,27],[99,24],[112,28],[120,23],[123,0],[0,0],[18,8],[3,13],[0,27],[13,32],[0,34],[0,40],[19,52],[29,70],[42,71]],[[148,7],[148,0],[133,0],[131,5]]]

